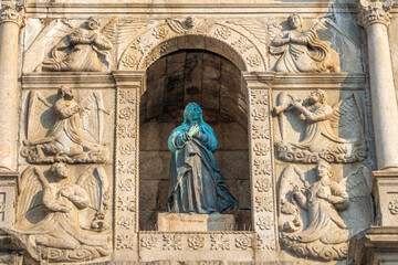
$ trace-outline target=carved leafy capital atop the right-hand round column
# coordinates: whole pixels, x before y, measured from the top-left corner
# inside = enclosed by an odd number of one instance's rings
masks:
[[[365,29],[373,23],[383,23],[389,26],[392,0],[357,0],[358,22]]]

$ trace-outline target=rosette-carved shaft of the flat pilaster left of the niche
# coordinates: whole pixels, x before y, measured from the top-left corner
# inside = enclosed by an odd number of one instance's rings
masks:
[[[138,230],[138,103],[136,88],[117,89],[116,126],[116,250],[136,248],[134,234]]]

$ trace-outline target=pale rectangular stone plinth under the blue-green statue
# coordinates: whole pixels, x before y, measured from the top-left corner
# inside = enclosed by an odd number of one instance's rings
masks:
[[[206,232],[231,231],[234,227],[232,214],[158,213],[158,231]]]

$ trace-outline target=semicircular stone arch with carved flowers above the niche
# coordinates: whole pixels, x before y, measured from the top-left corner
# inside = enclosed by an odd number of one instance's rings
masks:
[[[168,19],[136,36],[122,54],[118,70],[145,71],[164,55],[195,49],[217,53],[234,63],[241,72],[266,71],[268,63],[261,49],[251,38],[228,24],[201,20],[191,29],[178,30],[172,23]]]

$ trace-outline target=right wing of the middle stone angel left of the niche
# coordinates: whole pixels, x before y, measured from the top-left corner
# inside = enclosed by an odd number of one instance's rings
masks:
[[[104,115],[111,114],[104,108],[104,99],[101,92],[87,92],[83,95],[81,106],[83,108],[82,123],[85,139],[102,142],[104,130]]]

